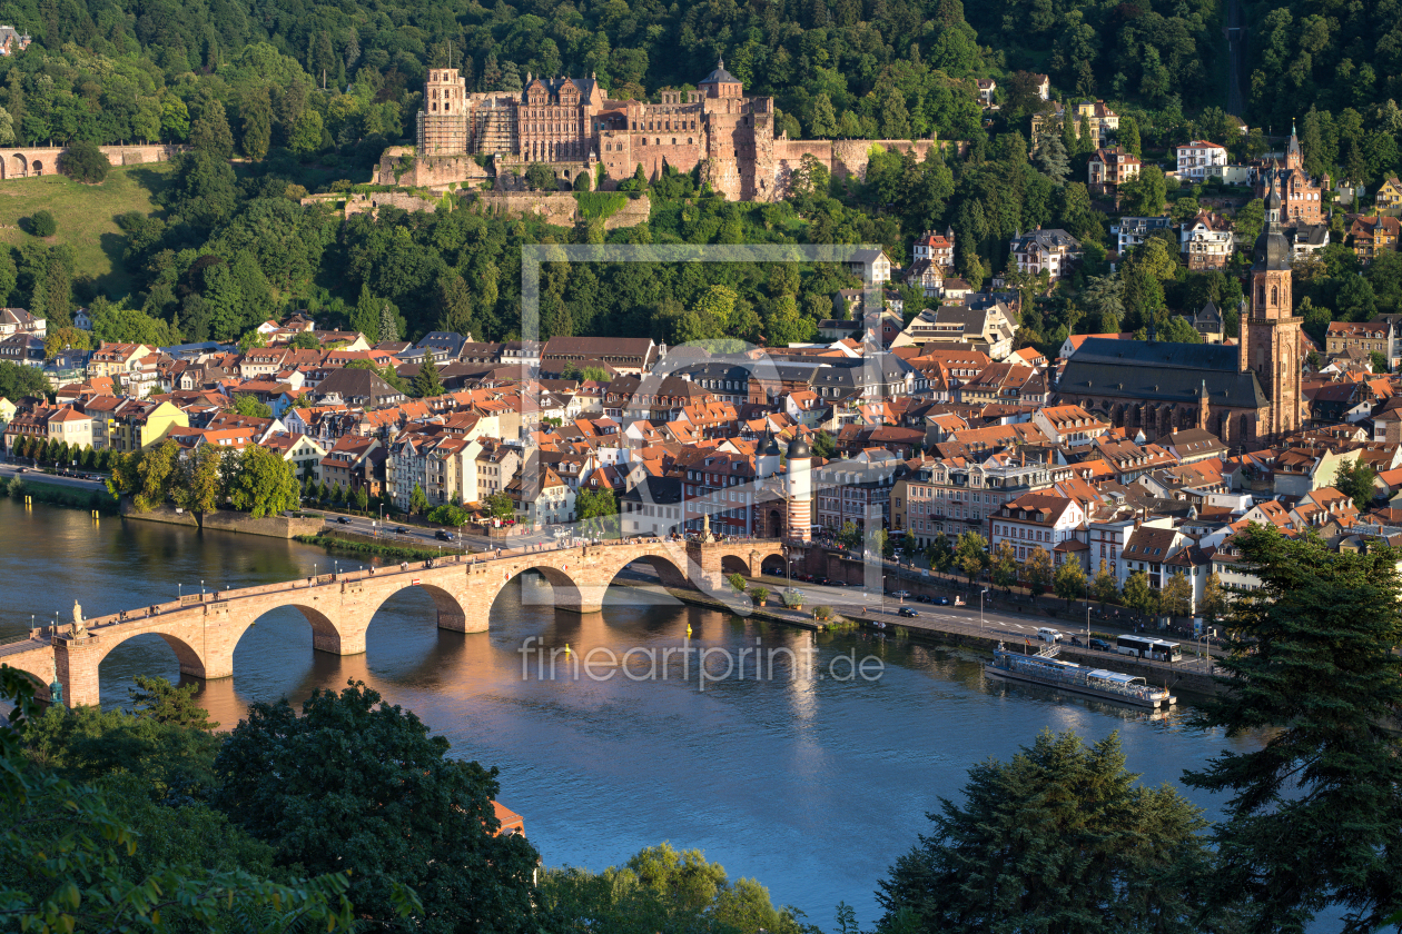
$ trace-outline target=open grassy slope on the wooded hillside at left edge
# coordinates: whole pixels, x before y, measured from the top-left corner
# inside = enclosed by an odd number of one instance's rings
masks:
[[[20,220],[48,209],[57,221],[50,242],[70,244],[77,252],[77,274],[90,276],[114,298],[130,291],[122,267],[122,232],[116,216],[156,213],[156,193],[171,179],[170,162],[114,168],[101,185],[79,185],[63,175],[0,182],[0,242],[17,246],[29,234]]]

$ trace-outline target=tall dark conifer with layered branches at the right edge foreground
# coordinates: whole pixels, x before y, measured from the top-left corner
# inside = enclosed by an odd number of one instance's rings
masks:
[[[1228,795],[1204,896],[1245,899],[1246,931],[1302,930],[1326,906],[1377,930],[1402,910],[1402,741],[1387,728],[1402,709],[1398,555],[1260,525],[1238,543],[1260,587],[1232,602],[1224,695],[1195,720],[1260,739],[1185,774]]]

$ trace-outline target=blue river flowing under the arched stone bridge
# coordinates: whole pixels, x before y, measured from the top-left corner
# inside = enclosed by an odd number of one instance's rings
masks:
[[[79,510],[27,510],[10,500],[0,500],[0,528],[6,632],[55,612],[69,619],[74,599],[97,616],[174,599],[202,581],[244,587],[306,577],[332,562],[362,566],[296,542],[95,522]],[[534,604],[544,587],[523,578],[503,591],[492,630],[471,636],[437,630],[429,598],[405,591],[376,616],[366,654],[346,658],[314,653],[296,611],[268,613],[238,643],[234,676],[205,685],[200,700],[227,727],[252,702],[300,703],[317,688],[365,681],[447,737],[451,755],[501,769],[499,798],[524,816],[548,865],[600,870],[670,840],[704,850],[732,878],[758,878],[777,905],[794,905],[824,928],[838,900],[869,926],[876,879],[928,829],[923,815],[941,795],[958,797],[970,765],[1007,759],[1043,728],[1071,728],[1087,741],[1119,730],[1129,766],[1151,784],[1178,781],[1228,744],[1187,728],[1180,713],[1150,718],[987,682],[965,653],[639,605],[634,588],[615,588],[621,602],[580,618]],[[533,647],[568,643],[576,660],[592,648],[663,650],[681,646],[688,625],[701,648],[787,648],[795,660],[809,651],[812,661],[789,664],[780,651],[773,678],[756,679],[750,655],[743,681],[700,690],[694,669],[680,679],[680,655],[666,679],[614,671],[596,681],[576,679],[564,665],[543,678],[537,655],[520,651],[529,639]],[[837,655],[879,658],[883,672],[848,679]],[[868,662],[866,674],[873,669]],[[175,655],[157,636],[107,657],[104,706],[123,703],[140,674],[178,679]],[[1220,801],[1187,794],[1217,815]]]

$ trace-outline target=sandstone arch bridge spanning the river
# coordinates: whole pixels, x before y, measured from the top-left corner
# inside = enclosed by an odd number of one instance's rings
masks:
[[[603,609],[604,591],[634,562],[651,564],[663,585],[697,588],[728,601],[735,592],[725,576],[757,577],[765,559],[782,562],[784,545],[770,539],[732,542],[617,542],[571,549],[454,556],[430,562],[321,574],[282,584],[191,594],[112,616],[86,620],[86,633],[49,634],[0,647],[0,664],[29,674],[48,697],[57,676],[63,700],[97,704],[98,667],[109,651],[133,636],[156,634],[175,651],[182,675],[215,679],[234,674],[234,647],[262,615],[283,606],[301,612],[318,651],[356,655],[380,606],[407,587],[422,588],[437,609],[437,626],[461,633],[486,632],[492,604],[506,584],[537,571],[554,588],[555,606],[578,613]],[[771,562],[773,564],[773,562]],[[737,608],[742,605],[736,604]],[[749,599],[744,601],[749,605]]]

